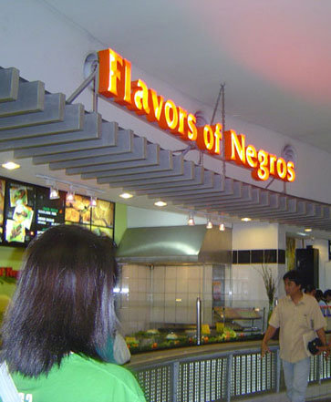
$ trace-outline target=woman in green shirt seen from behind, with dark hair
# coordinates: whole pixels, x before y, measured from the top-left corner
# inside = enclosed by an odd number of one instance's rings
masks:
[[[98,354],[116,330],[116,276],[111,240],[81,227],[55,226],[30,243],[0,356],[22,400],[145,402],[129,370]]]

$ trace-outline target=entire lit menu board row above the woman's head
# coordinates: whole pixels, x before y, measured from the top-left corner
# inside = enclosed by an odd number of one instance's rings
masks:
[[[101,236],[114,237],[114,202],[75,194],[66,201],[66,191],[49,199],[49,188],[0,178],[0,243],[26,246],[37,234],[59,224],[78,224]]]

